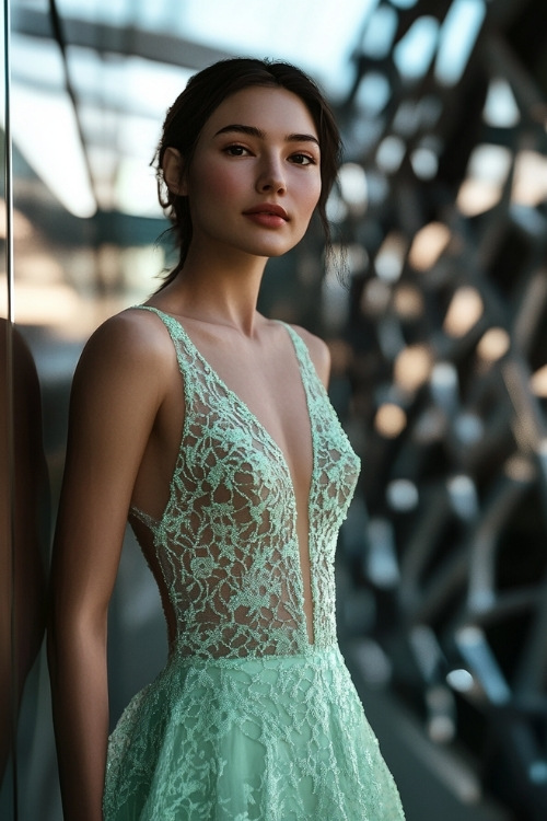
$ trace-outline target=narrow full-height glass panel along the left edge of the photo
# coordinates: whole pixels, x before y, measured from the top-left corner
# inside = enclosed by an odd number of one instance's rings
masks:
[[[2,370],[0,428],[1,578],[1,755],[4,773],[0,817],[40,818],[33,795],[31,773],[36,758],[35,735],[43,713],[38,696],[45,663],[40,655],[45,631],[45,593],[49,544],[49,499],[44,456],[40,385],[34,354],[25,328],[19,323],[19,257],[32,245],[32,222],[19,210],[24,163],[13,139],[19,126],[20,96],[12,82],[13,38],[11,5],[3,4],[2,77],[2,232],[3,258],[0,282]],[[15,105],[13,104],[15,101]],[[21,130],[21,129],[20,129]],[[18,271],[19,274],[19,271]],[[4,697],[5,695],[5,697]],[[46,708],[46,715],[48,715]],[[8,752],[9,749],[9,752]],[[4,765],[5,762],[5,765]]]

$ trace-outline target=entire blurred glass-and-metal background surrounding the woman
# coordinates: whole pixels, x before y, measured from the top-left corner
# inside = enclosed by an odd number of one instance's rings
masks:
[[[363,461],[339,633],[407,819],[545,821],[545,0],[2,13],[1,818],[61,819],[42,637],[73,369],[170,265],[149,164],[167,106],[245,55],[311,73],[344,135],[329,217],[346,274],[312,230],[268,264],[260,309],[331,349]],[[166,650],[130,534],[109,636],[114,722]]]

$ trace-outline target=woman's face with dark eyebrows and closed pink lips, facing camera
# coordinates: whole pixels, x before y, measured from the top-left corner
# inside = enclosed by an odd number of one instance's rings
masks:
[[[249,88],[212,113],[184,175],[200,243],[279,256],[304,235],[321,194],[318,136],[286,89]]]

